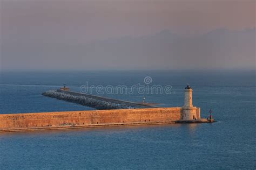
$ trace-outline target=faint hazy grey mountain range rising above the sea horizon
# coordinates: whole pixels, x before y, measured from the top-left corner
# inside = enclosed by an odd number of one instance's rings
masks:
[[[83,61],[89,57],[95,62],[104,57],[109,60],[103,66],[113,63],[135,68],[252,68],[255,66],[255,35],[255,29],[219,29],[194,37],[162,31],[153,36],[90,44],[85,47]]]

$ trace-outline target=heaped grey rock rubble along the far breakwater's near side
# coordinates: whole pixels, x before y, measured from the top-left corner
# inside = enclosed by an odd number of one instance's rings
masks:
[[[42,95],[52,97],[52,98],[57,98],[58,100],[64,100],[64,101],[86,105],[87,107],[96,108],[99,110],[143,108],[138,105],[108,102],[108,101],[98,100],[95,98],[90,98],[85,96],[74,96],[70,94],[61,93],[56,90],[45,91]]]

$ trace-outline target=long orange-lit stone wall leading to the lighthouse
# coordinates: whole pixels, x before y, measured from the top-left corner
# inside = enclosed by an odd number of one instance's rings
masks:
[[[0,132],[170,124],[182,108],[147,108],[0,114]]]

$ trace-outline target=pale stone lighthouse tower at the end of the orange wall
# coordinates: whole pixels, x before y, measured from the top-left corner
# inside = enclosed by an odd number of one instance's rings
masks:
[[[184,106],[181,114],[183,120],[200,119],[200,108],[193,107],[192,92],[193,89],[187,85],[184,90]]]

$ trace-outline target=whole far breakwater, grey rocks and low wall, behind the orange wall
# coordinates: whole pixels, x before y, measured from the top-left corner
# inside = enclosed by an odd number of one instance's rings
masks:
[[[96,108],[99,110],[152,108],[150,106],[145,106],[133,102],[118,101],[111,98],[80,94],[65,90],[49,90],[45,91],[42,95],[57,98],[58,100],[86,105],[87,107]]]

